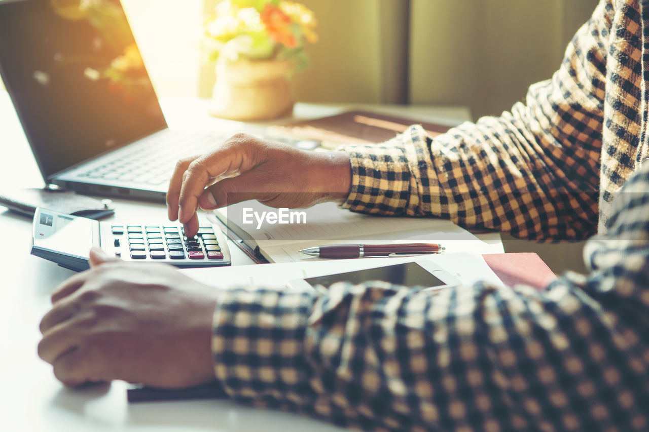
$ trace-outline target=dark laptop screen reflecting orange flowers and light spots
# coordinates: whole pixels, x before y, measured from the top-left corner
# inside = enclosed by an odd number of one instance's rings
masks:
[[[46,181],[167,127],[117,0],[0,0],[0,72]]]

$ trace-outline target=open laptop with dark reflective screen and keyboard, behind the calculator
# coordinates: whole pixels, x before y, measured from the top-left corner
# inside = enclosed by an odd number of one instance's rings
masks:
[[[0,75],[47,185],[164,202],[227,138],[167,127],[118,0],[0,0]]]

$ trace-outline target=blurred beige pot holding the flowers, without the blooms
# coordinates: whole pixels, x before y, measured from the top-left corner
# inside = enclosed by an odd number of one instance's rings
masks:
[[[288,60],[219,60],[210,114],[239,121],[290,115],[293,69]]]

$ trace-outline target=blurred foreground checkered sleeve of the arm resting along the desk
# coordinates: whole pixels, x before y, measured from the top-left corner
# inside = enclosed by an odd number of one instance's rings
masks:
[[[235,400],[376,431],[649,429],[649,164],[544,291],[382,282],[225,291],[215,376]]]

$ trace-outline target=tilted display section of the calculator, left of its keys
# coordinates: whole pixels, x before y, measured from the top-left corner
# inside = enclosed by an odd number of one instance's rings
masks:
[[[34,224],[34,246],[69,256],[88,258],[97,221],[40,210]]]

